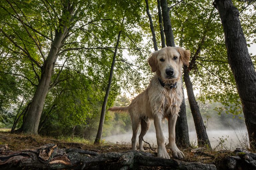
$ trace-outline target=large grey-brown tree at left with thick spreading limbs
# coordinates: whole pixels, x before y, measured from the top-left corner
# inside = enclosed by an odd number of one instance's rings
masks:
[[[52,40],[51,48],[45,56],[43,53],[43,49],[41,46],[41,43],[36,35],[36,30],[31,29],[31,24],[26,23],[28,19],[27,16],[24,15],[23,11],[21,11],[21,8],[17,6],[15,2],[11,2],[7,0],[8,4],[10,5],[11,9],[13,10],[14,14],[12,15],[13,18],[15,18],[25,29],[27,35],[31,38],[31,40],[36,44],[41,57],[43,58],[43,63],[36,61],[32,54],[28,51],[27,47],[24,45],[24,47],[20,46],[12,37],[10,37],[2,28],[0,31],[2,34],[10,41],[12,42],[16,47],[18,47],[22,52],[24,52],[24,55],[29,58],[34,64],[36,64],[41,69],[41,75],[38,76],[38,85],[34,94],[34,97],[32,99],[31,105],[28,109],[27,118],[22,126],[22,131],[25,133],[32,133],[37,134],[38,125],[41,117],[41,113],[43,110],[43,104],[45,97],[49,91],[51,76],[53,73],[53,69],[56,63],[56,60],[58,56],[60,55],[61,47],[63,46],[63,43],[65,40],[69,37],[70,29],[74,26],[75,22],[74,18],[77,13],[74,14],[74,11],[77,7],[77,2],[70,2],[70,1],[64,1],[63,2],[63,8],[61,11],[61,15],[59,18],[59,24],[57,28],[55,29],[55,35]],[[19,11],[17,11],[19,10]],[[23,16],[20,16],[23,15]],[[25,21],[23,21],[24,19]],[[56,83],[56,82],[54,82]]]

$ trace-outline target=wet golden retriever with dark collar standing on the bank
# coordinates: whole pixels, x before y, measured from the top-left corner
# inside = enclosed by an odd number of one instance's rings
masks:
[[[145,91],[135,97],[127,107],[112,107],[109,111],[129,112],[132,122],[132,149],[136,150],[139,135],[139,148],[143,151],[142,139],[154,121],[158,146],[158,157],[170,158],[165,148],[161,122],[168,119],[169,144],[174,158],[182,159],[184,154],[175,142],[175,124],[183,100],[182,66],[189,63],[190,51],[181,47],[165,47],[151,54],[148,63],[156,74],[151,78]]]

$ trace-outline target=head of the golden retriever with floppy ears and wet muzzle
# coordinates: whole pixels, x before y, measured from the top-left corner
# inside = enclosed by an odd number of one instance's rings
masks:
[[[183,65],[189,64],[190,51],[182,47],[165,47],[152,53],[148,63],[163,80],[177,79]]]

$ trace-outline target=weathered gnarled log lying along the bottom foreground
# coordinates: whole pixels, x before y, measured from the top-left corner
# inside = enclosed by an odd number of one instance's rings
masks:
[[[175,159],[155,157],[154,154],[142,151],[122,153],[97,152],[65,148],[58,149],[56,144],[49,143],[37,149],[11,151],[7,145],[0,145],[0,169],[134,169],[145,167],[169,167],[180,170],[216,170],[213,164],[184,162]]]

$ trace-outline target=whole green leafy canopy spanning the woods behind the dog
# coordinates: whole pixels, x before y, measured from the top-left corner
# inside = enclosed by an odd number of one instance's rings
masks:
[[[153,26],[158,30],[157,2],[148,3]],[[250,47],[256,42],[256,2],[233,3]],[[38,122],[34,130],[39,134],[75,132],[93,137],[120,30],[107,108],[129,104],[120,94],[140,93],[153,75],[147,63],[154,50],[145,1],[6,0],[0,2],[0,9],[1,127],[26,130],[24,122],[32,113],[41,112],[33,120]],[[168,1],[168,9],[175,44],[190,49],[191,56],[201,48],[190,71],[194,90],[199,90],[200,105],[218,102],[214,108],[217,112],[241,114],[223,28],[212,2],[174,0]],[[160,49],[159,31],[156,41]],[[255,66],[256,53],[250,57]],[[43,96],[43,100],[35,96]],[[36,102],[42,107],[34,107]],[[122,124],[122,130],[130,129],[129,119],[127,115],[107,113],[105,128]],[[108,135],[107,130],[104,132]]]

